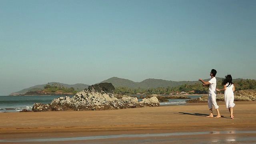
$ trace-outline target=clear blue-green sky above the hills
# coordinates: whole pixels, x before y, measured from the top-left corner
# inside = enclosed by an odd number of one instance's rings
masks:
[[[256,78],[255,0],[0,0],[0,95],[118,77]]]

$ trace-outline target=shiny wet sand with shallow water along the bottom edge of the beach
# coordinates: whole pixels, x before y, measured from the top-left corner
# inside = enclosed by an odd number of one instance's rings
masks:
[[[245,135],[246,134],[246,137]],[[161,143],[168,142],[189,142],[190,139],[194,143],[254,143],[256,131],[211,131],[211,132],[174,132],[162,134],[120,134],[120,135],[105,135],[105,136],[84,136],[70,138],[34,138],[34,139],[19,139],[19,140],[0,140],[0,142],[64,142],[65,144],[82,144],[89,142],[90,144],[109,144],[109,143]],[[207,136],[206,136],[207,135]],[[192,143],[193,143],[192,142]],[[191,143],[191,141],[190,141]]]

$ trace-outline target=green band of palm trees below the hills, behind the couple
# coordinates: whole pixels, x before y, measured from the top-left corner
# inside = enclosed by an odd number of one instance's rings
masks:
[[[238,81],[234,81],[235,90],[248,90],[248,89],[256,89],[256,80],[251,79],[241,79]],[[217,88],[222,89],[222,80],[217,81]],[[148,89],[142,89],[142,88],[128,88],[125,86],[119,86],[115,88],[115,94],[163,94],[163,95],[169,95],[169,94],[180,94],[181,92],[186,92],[188,94],[208,94],[208,88],[203,87],[202,83],[196,83],[196,84],[183,84],[181,86],[175,86],[167,88],[165,87],[158,87],[158,88],[148,88]],[[224,92],[220,92],[220,94],[223,94]]]

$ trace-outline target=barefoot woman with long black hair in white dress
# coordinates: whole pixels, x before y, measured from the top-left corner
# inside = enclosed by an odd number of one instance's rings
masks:
[[[226,75],[225,78],[222,80],[222,84],[224,85],[224,88],[220,90],[224,90],[224,100],[226,103],[226,108],[228,108],[230,112],[230,118],[234,118],[233,116],[233,107],[235,106],[234,103],[234,91],[235,86],[232,82],[232,76],[230,74]],[[220,91],[218,88],[216,88],[217,91]]]

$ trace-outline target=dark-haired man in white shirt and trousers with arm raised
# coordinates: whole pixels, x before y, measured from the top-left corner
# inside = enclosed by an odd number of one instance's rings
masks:
[[[214,118],[220,118],[220,111],[219,111],[219,106],[217,105],[216,102],[216,76],[217,71],[212,69],[210,72],[210,76],[212,77],[208,82],[203,81],[201,78],[199,78],[199,81],[203,83],[204,87],[209,87],[209,93],[208,93],[208,107],[210,109],[210,115],[206,116],[206,117],[213,117],[212,114],[212,105],[214,106],[214,108],[217,111],[217,116],[215,116]]]

